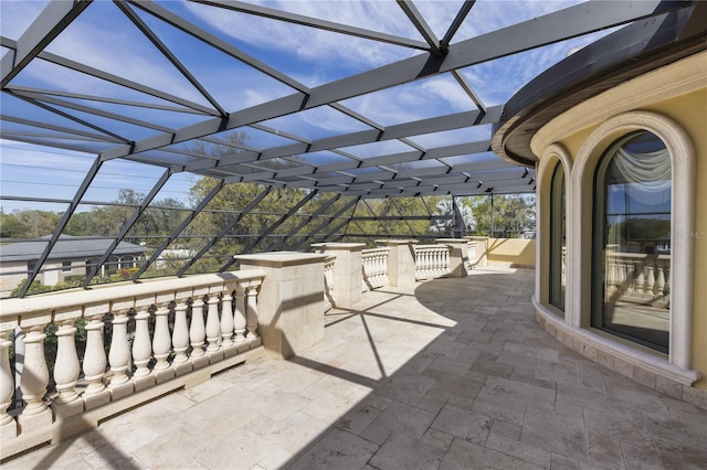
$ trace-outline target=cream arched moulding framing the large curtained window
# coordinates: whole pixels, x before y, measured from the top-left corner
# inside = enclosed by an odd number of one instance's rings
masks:
[[[602,342],[602,344],[615,344],[611,348],[624,351],[625,354],[633,357],[640,357],[640,362],[650,368],[666,372],[671,368],[655,362],[658,359],[656,354],[658,354],[658,356],[667,359],[671,366],[688,371],[692,362],[690,329],[694,289],[694,239],[689,234],[694,232],[695,151],[687,132],[673,119],[658,113],[632,110],[610,117],[584,139],[578,151],[577,164],[572,174],[572,202],[569,212],[573,214],[571,225],[577,231],[577,236],[571,236],[570,247],[568,247],[576,264],[570,276],[576,279],[573,284],[579,289],[578,295],[572,299],[571,307],[573,316],[576,314],[578,318],[572,318],[571,324],[582,329],[591,329],[592,236],[587,234],[587,231],[582,231],[582,227],[590,227],[593,223],[593,191],[590,194],[583,194],[583,192],[587,192],[587,188],[593,188],[595,168],[604,149],[621,136],[635,130],[647,130],[665,143],[671,156],[673,181],[680,183],[673,184],[671,206],[673,236],[674,239],[679,237],[679,243],[673,245],[672,252],[671,343],[667,357],[637,344],[634,348],[627,341],[624,341],[625,344],[621,343],[618,339]],[[625,351],[626,345],[632,352]]]

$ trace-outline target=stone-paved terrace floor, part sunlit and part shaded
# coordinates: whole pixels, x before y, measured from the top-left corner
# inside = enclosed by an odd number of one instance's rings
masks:
[[[707,412],[564,348],[534,271],[368,292],[325,340],[262,357],[3,470],[707,468]]]

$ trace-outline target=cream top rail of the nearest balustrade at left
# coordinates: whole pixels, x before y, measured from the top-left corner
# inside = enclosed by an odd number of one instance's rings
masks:
[[[23,316],[51,314],[55,311],[67,311],[88,307],[105,307],[109,311],[116,303],[125,303],[137,299],[149,299],[158,295],[172,292],[205,295],[212,286],[235,285],[243,281],[258,280],[265,277],[262,269],[229,271],[218,274],[194,275],[183,278],[148,279],[140,284],[93,286],[91,290],[72,289],[64,292],[43,293],[24,299],[3,299],[0,301],[0,321],[17,321]],[[222,289],[211,289],[221,291]],[[160,296],[161,297],[161,296]]]

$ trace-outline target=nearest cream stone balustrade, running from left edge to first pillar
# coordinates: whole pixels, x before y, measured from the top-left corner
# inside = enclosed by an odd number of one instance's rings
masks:
[[[123,398],[124,407],[135,406],[208,378],[187,377],[200,367],[211,374],[242,362],[240,353],[261,344],[257,292],[263,276],[254,269],[3,301],[0,458],[52,440],[62,434],[56,426],[72,417],[97,424],[123,409],[102,405]],[[23,406],[9,413],[14,393],[10,334],[15,327],[25,333],[19,384]],[[85,328],[81,354],[77,327]],[[99,413],[104,408],[105,416]]]

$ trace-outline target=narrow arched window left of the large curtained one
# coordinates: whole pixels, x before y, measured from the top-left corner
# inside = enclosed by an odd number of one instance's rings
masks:
[[[558,161],[550,184],[550,303],[564,312],[567,285],[567,197],[564,168]]]

